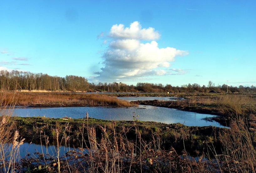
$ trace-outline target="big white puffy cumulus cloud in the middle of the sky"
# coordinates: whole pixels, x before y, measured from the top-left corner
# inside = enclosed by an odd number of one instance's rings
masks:
[[[142,28],[140,23],[133,22],[129,28],[123,24],[113,25],[109,36],[114,38],[103,54],[104,67],[95,72],[95,79],[134,79],[134,77],[170,74],[169,62],[176,56],[187,55],[187,51],[176,48],[159,48],[155,39],[160,34],[154,28]],[[152,40],[141,43],[142,40]],[[182,74],[181,71],[171,71]]]

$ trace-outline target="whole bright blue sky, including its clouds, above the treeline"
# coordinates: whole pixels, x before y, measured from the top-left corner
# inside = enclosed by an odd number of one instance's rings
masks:
[[[0,69],[94,83],[256,85],[255,7],[254,0],[2,0]]]

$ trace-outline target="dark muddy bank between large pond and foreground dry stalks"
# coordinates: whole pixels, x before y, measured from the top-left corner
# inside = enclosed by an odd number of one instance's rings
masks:
[[[209,142],[216,148],[221,148],[220,141],[216,134],[227,132],[229,129],[213,126],[189,127],[177,124],[164,124],[156,122],[140,121],[108,121],[89,118],[86,119],[53,119],[45,117],[15,117],[15,125],[19,129],[19,134],[25,138],[26,142],[36,144],[46,144],[46,139],[52,145],[56,144],[56,130],[58,139],[62,145],[71,145],[74,148],[90,145],[88,132],[95,128],[97,141],[102,139],[102,127],[105,129],[109,138],[113,133],[125,136],[127,140],[136,141],[136,131],[140,132],[141,139],[150,143],[158,136],[161,139],[161,148],[170,150],[175,148],[176,152],[181,153],[186,150],[191,155],[196,155],[197,151],[206,152]],[[88,130],[89,129],[89,130]],[[67,140],[68,137],[68,140]],[[154,137],[154,138],[153,138]],[[84,142],[82,142],[84,141]],[[185,143],[184,143],[185,141]],[[221,152],[221,150],[219,150]]]

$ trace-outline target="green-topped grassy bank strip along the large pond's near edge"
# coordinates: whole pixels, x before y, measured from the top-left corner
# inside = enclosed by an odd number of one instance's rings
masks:
[[[179,151],[183,150],[184,148],[181,143],[178,143],[178,140],[181,140],[182,132],[189,132],[191,136],[196,136],[196,140],[193,141],[193,145],[187,141],[186,146],[188,150],[191,151],[191,154],[195,154],[194,150],[199,148],[203,148],[202,142],[197,140],[206,140],[208,137],[206,136],[214,136],[213,131],[219,132],[220,130],[227,130],[223,128],[217,127],[189,127],[182,124],[164,124],[164,123],[156,123],[156,122],[140,122],[140,121],[109,121],[109,120],[98,120],[94,118],[87,119],[52,119],[46,117],[15,117],[13,119],[15,125],[19,127],[19,133],[21,136],[26,138],[26,142],[33,142],[39,143],[40,142],[40,135],[43,132],[44,135],[49,137],[49,141],[54,143],[55,139],[55,129],[59,129],[59,137],[62,138],[65,135],[69,136],[69,141],[72,147],[81,147],[82,143],[79,139],[88,139],[87,136],[87,127],[88,128],[95,128],[96,138],[100,139],[102,136],[100,126],[105,127],[108,135],[111,134],[113,131],[113,123],[115,131],[125,131],[126,137],[128,140],[135,140],[136,136],[134,136],[135,127],[138,131],[140,131],[142,138],[145,141],[150,141],[152,135],[158,133],[163,138],[163,142],[161,147],[165,150],[169,150],[170,146],[179,147]],[[86,129],[84,129],[84,136],[82,137],[83,127],[86,125]],[[65,133],[65,129],[69,128],[69,133]],[[41,132],[42,131],[42,132]],[[186,134],[188,135],[188,134]],[[171,140],[170,140],[171,139]],[[64,140],[65,141],[65,140]],[[177,143],[174,143],[176,141]],[[89,140],[83,141],[83,146],[88,145]],[[65,145],[63,143],[62,145]],[[181,147],[182,146],[182,147]],[[190,147],[188,147],[190,146]],[[194,146],[194,148],[192,148]],[[180,148],[181,147],[181,148]]]

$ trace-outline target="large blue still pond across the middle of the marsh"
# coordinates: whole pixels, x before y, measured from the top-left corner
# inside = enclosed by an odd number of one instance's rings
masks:
[[[223,127],[217,122],[204,120],[215,115],[199,114],[195,112],[181,111],[177,109],[139,105],[138,107],[64,107],[64,108],[17,108],[14,116],[35,117],[45,116],[50,118],[71,117],[83,118],[88,112],[89,117],[103,120],[133,120],[133,115],[139,115],[139,121],[155,121],[166,124],[182,123],[187,126],[217,126]]]

